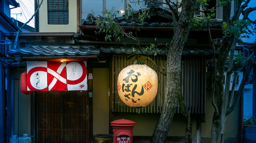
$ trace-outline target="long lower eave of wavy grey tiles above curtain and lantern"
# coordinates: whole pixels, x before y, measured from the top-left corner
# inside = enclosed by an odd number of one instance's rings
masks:
[[[153,50],[146,50],[142,48],[143,51],[148,55],[153,55],[155,52]],[[26,46],[24,48],[11,49],[8,54],[11,56],[20,55],[25,57],[32,56],[99,56],[100,52],[103,53],[115,53],[115,54],[134,54],[141,53],[137,48],[132,47],[101,47],[97,46]],[[159,50],[161,55],[166,54],[168,51],[166,48]],[[216,51],[218,54],[219,51]],[[182,55],[211,55],[211,49],[186,49],[182,51]]]

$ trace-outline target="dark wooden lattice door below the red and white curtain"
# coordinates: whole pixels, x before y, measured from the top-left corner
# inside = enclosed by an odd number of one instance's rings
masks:
[[[36,143],[86,143],[86,92],[36,92]]]

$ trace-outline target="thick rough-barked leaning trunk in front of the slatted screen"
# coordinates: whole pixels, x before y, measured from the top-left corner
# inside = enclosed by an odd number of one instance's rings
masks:
[[[189,36],[192,19],[195,12],[195,0],[184,0],[182,13],[174,33],[166,61],[166,91],[164,95],[164,105],[160,119],[156,124],[154,134],[150,143],[166,143],[168,131],[170,129],[173,115],[177,105],[177,94],[180,80],[181,55],[187,37]]]

